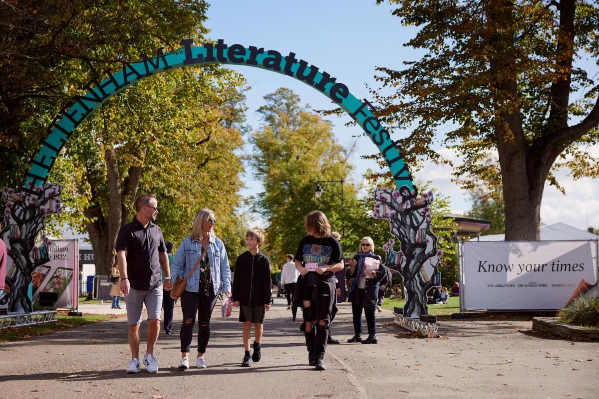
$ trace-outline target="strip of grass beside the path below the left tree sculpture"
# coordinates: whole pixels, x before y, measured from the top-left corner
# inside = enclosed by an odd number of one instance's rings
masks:
[[[58,321],[36,325],[26,325],[24,327],[11,327],[0,330],[0,343],[28,339],[60,330],[68,330],[69,328],[79,327],[80,325],[111,319],[114,317],[115,315],[88,315],[76,317],[67,316],[66,313],[58,313],[58,315],[56,315],[56,319],[58,319]]]

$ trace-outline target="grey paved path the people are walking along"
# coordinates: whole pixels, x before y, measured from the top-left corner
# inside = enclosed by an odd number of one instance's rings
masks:
[[[299,323],[291,322],[283,301],[277,298],[267,313],[263,357],[252,367],[240,367],[241,324],[234,309],[228,320],[214,313],[208,368],[175,368],[179,336],[161,334],[155,351],[159,373],[143,369],[125,374],[127,326],[124,318],[117,318],[0,344],[0,399],[595,399],[599,395],[599,343],[537,337],[528,332],[531,322],[525,321],[447,319],[440,321],[441,339],[420,339],[392,325],[392,314],[385,310],[377,313],[378,345],[330,345],[327,370],[315,371],[307,366]],[[95,306],[110,310],[110,303]],[[82,310],[92,312],[86,306]],[[179,307],[175,319],[178,329]],[[332,330],[339,339],[352,336],[349,304],[341,305]]]

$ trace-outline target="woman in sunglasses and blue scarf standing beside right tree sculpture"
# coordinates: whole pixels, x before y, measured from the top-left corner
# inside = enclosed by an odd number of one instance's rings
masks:
[[[374,258],[379,261],[378,270],[367,267],[369,261],[366,258]],[[376,262],[375,262],[376,263]],[[385,276],[385,266],[380,262],[380,256],[374,254],[374,241],[370,237],[360,240],[358,254],[348,262],[347,278],[353,278],[349,290],[349,301],[352,303],[353,332],[355,335],[347,342],[377,343],[376,322],[374,312],[379,294],[379,282]],[[366,315],[368,327],[368,338],[362,340],[362,309]]]

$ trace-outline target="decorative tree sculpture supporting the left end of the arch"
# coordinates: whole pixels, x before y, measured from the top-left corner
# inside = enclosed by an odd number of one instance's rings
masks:
[[[38,234],[46,226],[46,215],[62,211],[60,206],[60,185],[46,183],[19,192],[4,188],[2,198],[6,201],[4,229],[0,239],[7,244],[8,255],[13,260],[13,271],[7,274],[8,294],[2,297],[1,304],[8,303],[9,313],[32,311],[28,290],[31,273],[35,267],[49,260],[49,240],[42,236],[40,245],[35,244]]]

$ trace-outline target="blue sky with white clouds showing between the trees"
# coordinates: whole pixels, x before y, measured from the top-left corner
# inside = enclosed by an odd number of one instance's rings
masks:
[[[223,39],[229,45],[255,45],[284,55],[292,51],[298,59],[306,60],[346,84],[359,99],[371,99],[365,84],[377,86],[374,82],[376,66],[401,69],[404,60],[420,56],[412,48],[403,47],[403,43],[413,37],[415,28],[401,26],[400,20],[391,15],[392,8],[386,4],[377,6],[374,1],[358,0],[213,0],[212,3],[205,22],[205,26],[211,29],[208,34],[211,39]],[[246,96],[250,107],[247,123],[253,129],[260,126],[256,109],[263,104],[262,96],[279,87],[294,90],[302,102],[310,104],[313,109],[334,108],[331,100],[313,87],[285,75],[247,66],[234,69],[241,72],[252,86]],[[332,117],[335,135],[343,143],[355,139],[352,136],[361,135],[359,127],[344,126],[350,120],[349,115]],[[359,155],[371,154],[375,149],[368,138],[358,138],[358,152],[353,159],[356,181],[368,167],[377,168],[374,162],[359,159]],[[438,150],[444,156],[455,159],[450,151]],[[591,150],[595,155],[599,154],[597,146]],[[432,180],[434,187],[449,195],[454,211],[470,209],[464,191],[450,182],[451,171],[447,167],[431,164],[419,172],[412,172],[416,179]],[[562,222],[579,229],[599,227],[599,184],[592,179],[572,181],[565,172],[559,172],[558,177],[568,195],[562,196],[554,188],[546,188],[541,206],[543,223]],[[261,190],[259,182],[254,181],[251,174],[246,183],[248,188],[243,194]]]

